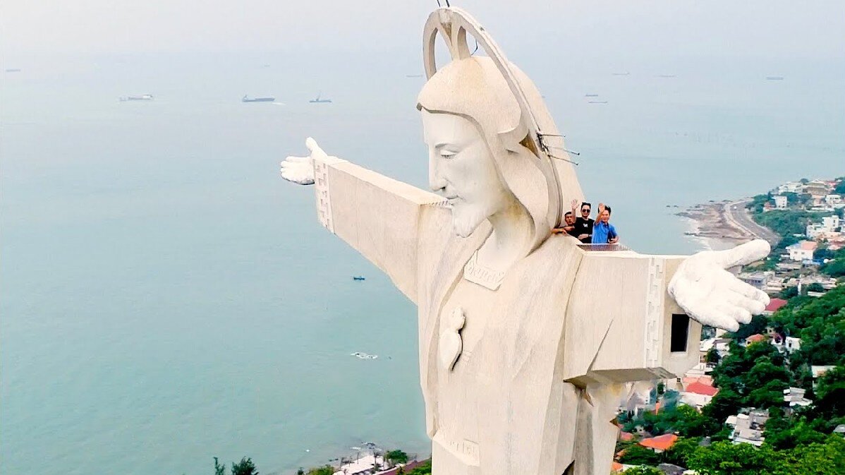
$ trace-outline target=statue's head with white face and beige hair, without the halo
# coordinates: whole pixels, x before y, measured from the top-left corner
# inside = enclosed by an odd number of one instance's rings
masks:
[[[440,69],[420,92],[417,108],[429,184],[449,200],[455,233],[466,237],[490,216],[523,206],[535,237],[548,236],[547,180],[521,127],[519,104],[490,58],[469,57]]]

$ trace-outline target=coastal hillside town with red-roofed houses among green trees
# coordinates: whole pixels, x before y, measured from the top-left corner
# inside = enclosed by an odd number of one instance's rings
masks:
[[[679,213],[711,248],[766,239],[737,270],[771,297],[734,333],[705,328],[701,362],[619,408],[613,472],[830,474],[845,467],[845,179],[783,183]]]

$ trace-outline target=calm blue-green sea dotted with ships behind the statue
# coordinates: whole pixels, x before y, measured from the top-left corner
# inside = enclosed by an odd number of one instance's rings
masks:
[[[635,250],[700,250],[684,206],[845,175],[842,58],[541,56],[512,58]],[[416,308],[278,172],[311,136],[425,187],[418,52],[3,68],[20,71],[0,73],[0,472],[200,475],[248,456],[286,474],[366,442],[428,456]]]

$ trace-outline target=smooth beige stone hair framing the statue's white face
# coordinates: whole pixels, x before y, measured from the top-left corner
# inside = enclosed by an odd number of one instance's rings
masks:
[[[523,90],[537,88],[526,74],[510,66]],[[526,207],[534,222],[530,252],[548,237],[548,183],[537,150],[521,125],[519,103],[489,57],[452,61],[428,79],[417,96],[417,109],[455,114],[474,123],[505,187]]]

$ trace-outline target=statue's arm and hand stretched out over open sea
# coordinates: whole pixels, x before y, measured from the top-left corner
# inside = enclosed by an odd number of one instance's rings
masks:
[[[281,162],[281,176],[293,183],[314,184],[320,223],[383,270],[416,303],[423,208],[442,199],[328,156],[314,139],[305,144],[309,156],[287,157]]]

